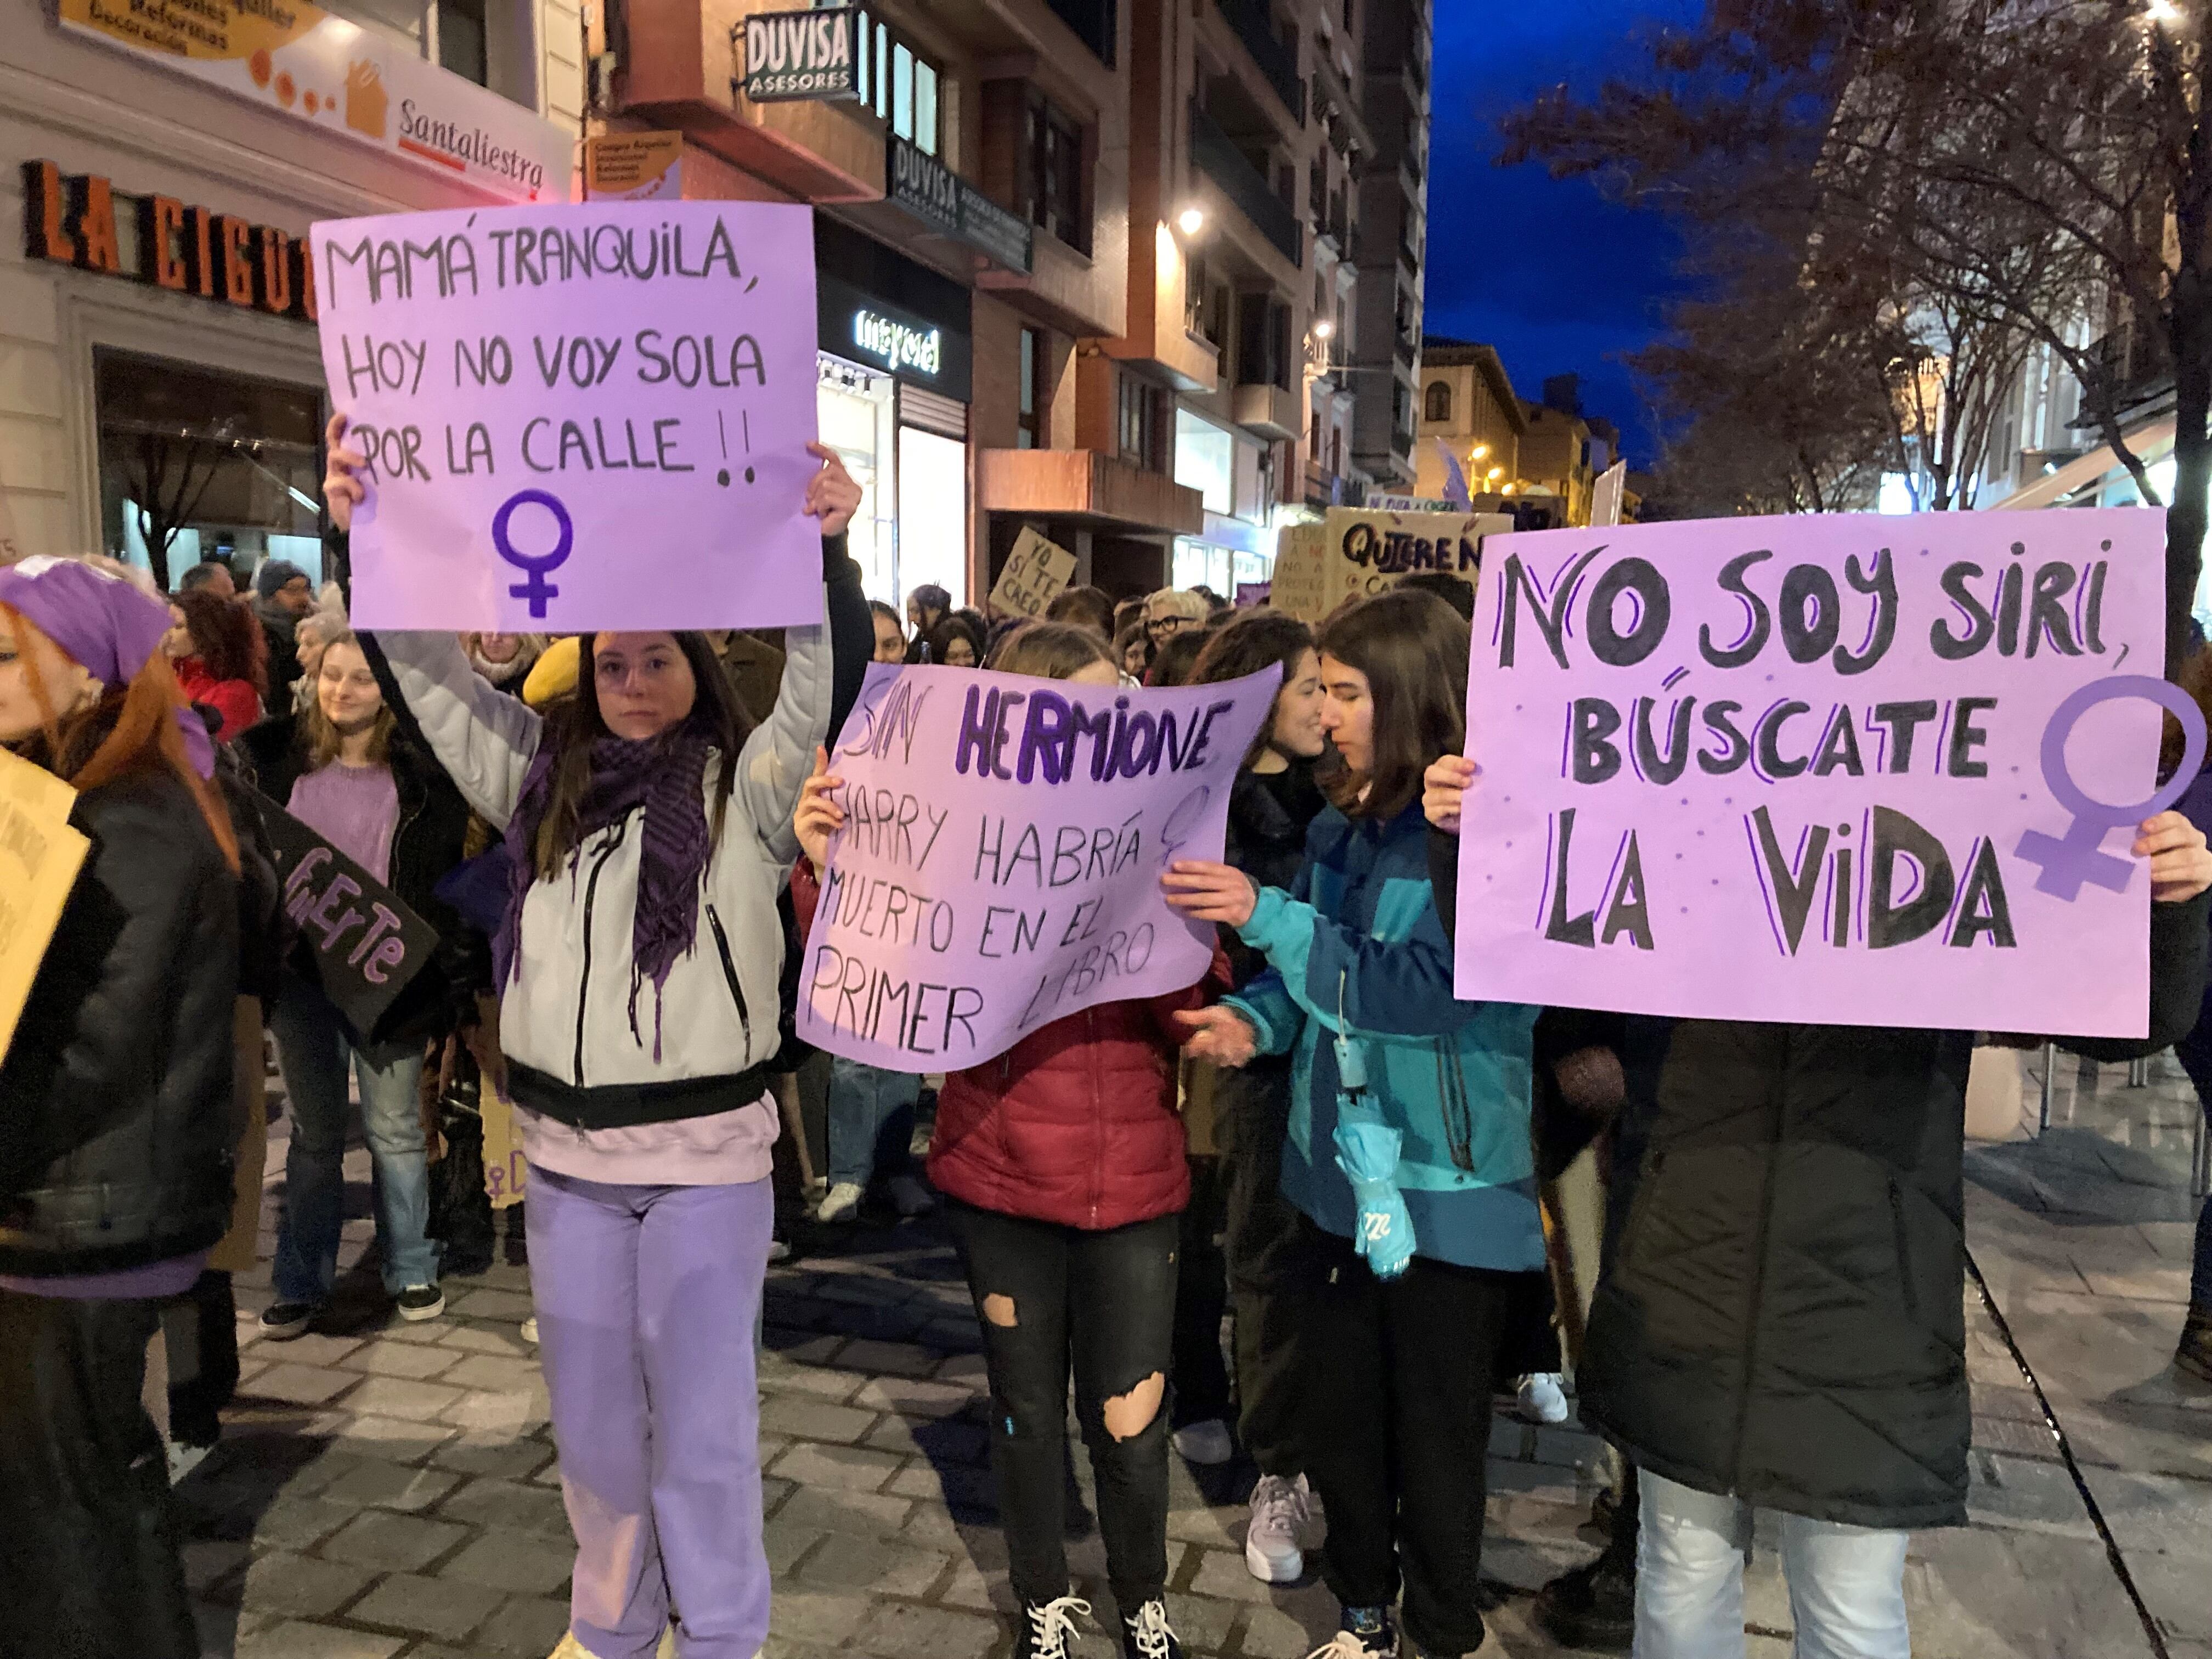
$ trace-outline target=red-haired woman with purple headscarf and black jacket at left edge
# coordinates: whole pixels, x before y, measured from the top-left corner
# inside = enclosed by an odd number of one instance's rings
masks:
[[[0,1060],[9,1652],[199,1652],[139,1389],[161,1298],[230,1223],[239,854],[166,628],[88,564],[0,568],[0,743],[91,841]]]

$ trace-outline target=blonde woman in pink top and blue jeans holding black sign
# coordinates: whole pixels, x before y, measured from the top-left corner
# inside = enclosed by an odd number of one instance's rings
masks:
[[[398,732],[361,639],[352,633],[330,639],[307,710],[261,721],[239,748],[254,765],[261,794],[398,894],[438,929],[451,962],[465,922],[436,887],[462,858],[469,810],[438,763]],[[429,995],[422,1018],[363,1042],[372,1033],[349,1031],[321,987],[292,971],[283,978],[270,1031],[292,1102],[292,1146],[270,1265],[276,1301],[261,1314],[263,1336],[305,1334],[338,1276],[347,1071],[361,1084],[361,1128],[376,1168],[385,1294],[407,1321],[445,1312],[438,1243],[429,1237],[429,1146],[418,1095],[422,1046],[442,1037],[451,1018],[436,982],[409,993]]]

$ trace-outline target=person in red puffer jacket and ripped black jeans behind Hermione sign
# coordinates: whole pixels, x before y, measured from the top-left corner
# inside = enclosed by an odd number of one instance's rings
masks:
[[[1104,641],[1031,622],[998,670],[1119,686]],[[799,841],[818,876],[845,823],[827,757],[799,805]],[[801,911],[814,883],[794,883]],[[1075,1615],[1064,1544],[1068,1371],[1097,1473],[1106,1573],[1126,1659],[1179,1659],[1168,1628],[1168,1420],[1179,1214],[1190,1197],[1175,1115],[1172,1015],[1190,987],[1108,1002],[1031,1031],[1006,1053],[956,1071],[938,1095],[929,1179],[982,1316],[991,1378],[991,1467],[1022,1601],[1015,1659],[1068,1659]]]

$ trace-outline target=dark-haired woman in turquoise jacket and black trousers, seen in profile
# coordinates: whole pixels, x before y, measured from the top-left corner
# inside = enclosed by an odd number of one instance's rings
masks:
[[[1290,889],[1230,865],[1170,865],[1186,916],[1237,929],[1267,971],[1186,1015],[1192,1057],[1290,1053],[1283,1194],[1303,1212],[1294,1272],[1305,1471],[1329,1515],[1323,1575],[1343,1604],[1332,1659],[1482,1646],[1491,1378],[1540,1294],[1544,1232],[1528,1144],[1537,1009],[1455,1002],[1429,902],[1420,776],[1462,745],[1467,624],[1383,593],[1321,633],[1327,779]]]

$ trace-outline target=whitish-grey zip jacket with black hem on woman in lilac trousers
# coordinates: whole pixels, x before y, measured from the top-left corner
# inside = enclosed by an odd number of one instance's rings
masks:
[[[847,566],[849,568],[849,566]],[[867,626],[858,584],[860,661],[838,675],[832,624],[790,628],[783,688],[737,757],[737,781],[699,891],[697,936],[659,998],[659,1057],[648,984],[630,1029],[630,927],[637,905],[644,810],[584,838],[573,869],[531,885],[522,902],[518,971],[500,987],[500,1046],[518,1104],[575,1128],[703,1117],[759,1099],[759,1068],[779,1042],[783,925],[776,896],[799,856],[792,812],[830,737],[838,679],[865,670]],[[847,628],[836,628],[843,637]],[[407,714],[462,796],[504,830],[522,794],[542,721],[487,686],[447,633],[380,633],[385,668]],[[710,754],[712,799],[723,757]],[[743,1079],[743,1082],[741,1082]]]

